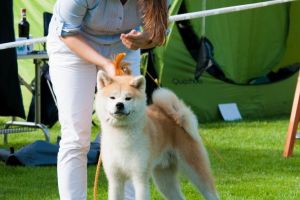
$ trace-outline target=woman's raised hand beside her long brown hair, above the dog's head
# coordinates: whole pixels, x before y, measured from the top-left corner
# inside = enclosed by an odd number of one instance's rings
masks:
[[[121,34],[122,43],[132,50],[149,49],[155,47],[157,44],[153,42],[147,32],[139,32],[132,30],[127,34]]]

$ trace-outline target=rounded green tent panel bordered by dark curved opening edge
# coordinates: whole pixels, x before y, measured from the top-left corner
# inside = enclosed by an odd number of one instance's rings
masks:
[[[228,6],[225,1],[209,2],[208,8]],[[215,58],[227,78],[247,83],[279,62],[288,32],[288,7],[282,4],[207,18],[207,37],[216,47]]]

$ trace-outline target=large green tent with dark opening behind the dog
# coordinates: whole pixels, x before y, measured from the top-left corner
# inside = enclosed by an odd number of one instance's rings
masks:
[[[206,9],[257,2],[208,0]],[[182,6],[187,12],[200,11],[202,1],[173,0],[170,15],[180,13]],[[171,23],[166,44],[154,49],[159,81],[190,105],[202,122],[221,119],[218,105],[225,103],[236,103],[244,119],[288,115],[300,63],[299,20],[300,2],[206,17],[205,36],[214,47],[214,60],[230,81],[207,72],[195,79],[197,62],[178,24]],[[199,37],[201,21],[188,21]],[[185,41],[194,40],[188,36]],[[270,74],[276,77],[283,69],[295,66],[298,68],[288,76],[269,80]]]

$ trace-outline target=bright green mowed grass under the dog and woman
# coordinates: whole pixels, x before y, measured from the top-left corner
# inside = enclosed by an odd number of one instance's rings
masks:
[[[300,199],[299,142],[293,157],[282,157],[287,125],[288,117],[200,125],[199,132],[210,156],[221,199]],[[56,124],[50,129],[52,143],[59,135],[59,128]],[[98,132],[99,128],[93,127],[92,138]],[[4,147],[20,148],[37,139],[44,139],[39,131],[10,135],[9,145]],[[88,199],[93,197],[95,170],[95,165],[88,167]],[[1,163],[0,177],[0,199],[58,199],[55,166],[11,167]],[[179,178],[186,199],[203,199],[185,177]],[[151,193],[151,199],[162,199],[153,184]],[[98,195],[107,199],[103,171]]]

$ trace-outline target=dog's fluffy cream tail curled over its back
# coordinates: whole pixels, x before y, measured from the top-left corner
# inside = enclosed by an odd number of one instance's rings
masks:
[[[160,107],[168,116],[173,118],[194,140],[201,142],[197,117],[172,91],[159,88],[154,91],[152,100],[154,105]]]

